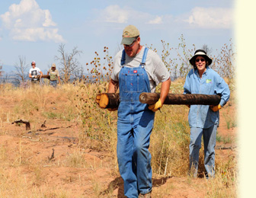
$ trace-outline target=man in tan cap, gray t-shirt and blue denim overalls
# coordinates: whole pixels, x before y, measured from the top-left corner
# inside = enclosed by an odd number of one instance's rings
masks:
[[[139,30],[129,25],[123,30],[123,50],[114,58],[108,93],[120,89],[117,120],[117,161],[123,178],[124,195],[129,198],[151,197],[152,169],[149,139],[155,111],[162,107],[171,85],[170,74],[162,59],[140,45]],[[155,92],[162,82],[155,104],[142,104],[139,94]],[[109,109],[117,110],[117,109]]]

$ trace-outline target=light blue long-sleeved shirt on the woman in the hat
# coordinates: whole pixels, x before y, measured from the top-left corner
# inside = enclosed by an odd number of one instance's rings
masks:
[[[207,67],[200,78],[197,69],[191,69],[184,84],[184,94],[220,94],[220,105],[229,101],[229,85],[213,69]],[[214,112],[209,105],[191,105],[188,113],[190,127],[207,129],[219,124],[219,110]]]

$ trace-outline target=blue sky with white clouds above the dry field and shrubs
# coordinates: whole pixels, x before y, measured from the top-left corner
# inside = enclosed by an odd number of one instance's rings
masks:
[[[79,61],[85,66],[95,51],[104,55],[104,46],[114,56],[129,24],[138,27],[142,45],[158,51],[161,40],[178,46],[181,34],[189,48],[206,44],[215,51],[234,38],[233,14],[231,0],[1,1],[0,61],[14,65],[24,56],[27,63],[35,60],[40,69],[48,69],[64,43],[67,52],[75,46],[82,50]]]

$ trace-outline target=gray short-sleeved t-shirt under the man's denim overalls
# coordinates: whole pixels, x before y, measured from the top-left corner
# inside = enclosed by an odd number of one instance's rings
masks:
[[[145,46],[142,46],[142,49],[136,56],[130,57],[126,55],[126,67],[138,67],[140,62],[142,62],[142,56],[144,53]],[[114,69],[112,70],[111,78],[114,81],[119,81],[119,73],[121,69],[121,59],[122,59],[123,49],[120,50],[117,55],[114,57]],[[162,59],[155,53],[152,49],[149,49],[149,52],[146,56],[146,72],[149,76],[149,84],[151,92],[155,92],[155,86],[160,82],[167,81],[170,78],[170,73],[165,67],[165,64],[162,62]]]

